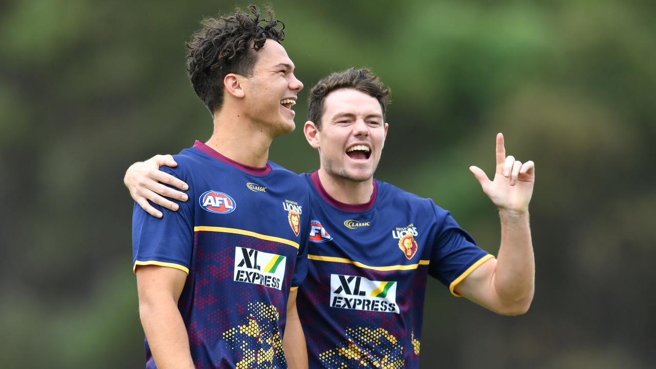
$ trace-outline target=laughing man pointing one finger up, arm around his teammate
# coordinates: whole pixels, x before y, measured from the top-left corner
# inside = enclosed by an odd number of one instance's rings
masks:
[[[310,368],[417,368],[428,276],[497,313],[529,309],[533,162],[506,157],[500,133],[493,181],[470,167],[499,207],[501,248],[495,258],[432,200],[373,179],[388,131],[390,91],[369,70],[325,77],[308,100],[304,133],[318,150],[320,166],[300,175],[310,188],[312,221],[298,313]],[[155,158],[126,173],[134,198],[153,196],[147,187],[157,190],[154,176],[144,174],[153,167]]]

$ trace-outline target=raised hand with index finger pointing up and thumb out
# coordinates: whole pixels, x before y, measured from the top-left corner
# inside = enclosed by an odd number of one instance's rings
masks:
[[[519,213],[528,210],[535,183],[535,163],[531,160],[522,163],[515,160],[514,156],[506,157],[501,133],[497,134],[497,170],[493,181],[479,167],[472,165],[469,170],[478,179],[483,192],[499,209]]]

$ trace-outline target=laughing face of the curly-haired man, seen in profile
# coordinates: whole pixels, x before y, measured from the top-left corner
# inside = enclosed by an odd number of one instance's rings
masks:
[[[246,79],[246,116],[262,125],[273,137],[294,130],[298,91],[303,83],[294,76],[294,63],[285,48],[272,39],[256,51],[253,75]]]

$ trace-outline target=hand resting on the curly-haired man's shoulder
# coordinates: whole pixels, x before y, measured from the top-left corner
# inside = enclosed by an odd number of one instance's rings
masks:
[[[176,191],[171,187],[162,185],[162,183],[180,188],[181,190],[187,190],[189,188],[186,183],[173,177],[173,175],[159,171],[159,167],[162,165],[175,167],[178,163],[173,160],[173,156],[171,155],[155,155],[145,162],[136,162],[130,165],[127,171],[125,171],[125,177],[123,177],[123,183],[130,190],[130,196],[132,196],[134,201],[150,215],[157,218],[161,218],[162,213],[151,206],[149,201],[173,211],[178,210],[178,204],[166,200],[162,196],[187,201],[187,195],[184,192]]]

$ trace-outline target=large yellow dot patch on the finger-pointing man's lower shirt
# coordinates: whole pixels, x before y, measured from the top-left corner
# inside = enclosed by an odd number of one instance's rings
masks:
[[[348,340],[340,347],[319,354],[326,368],[401,369],[403,345],[383,328],[347,328]]]

